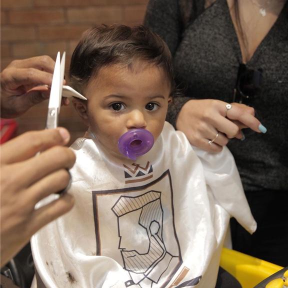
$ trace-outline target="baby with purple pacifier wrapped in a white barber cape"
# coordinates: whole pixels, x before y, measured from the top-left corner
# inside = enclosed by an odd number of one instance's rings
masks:
[[[228,149],[195,150],[165,122],[165,43],[143,26],[91,28],[70,84],[88,130],[71,146],[74,208],[32,238],[38,287],[214,287],[230,216],[256,223]]]

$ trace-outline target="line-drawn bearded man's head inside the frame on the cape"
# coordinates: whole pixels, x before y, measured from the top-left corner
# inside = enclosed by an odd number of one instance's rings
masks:
[[[118,218],[119,249],[127,271],[147,273],[165,255],[160,194],[151,190],[135,197],[121,196],[112,207]]]

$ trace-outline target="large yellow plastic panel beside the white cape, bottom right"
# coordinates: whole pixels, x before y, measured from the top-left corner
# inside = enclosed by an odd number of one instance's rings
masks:
[[[232,274],[240,282],[242,288],[253,288],[283,268],[227,248],[222,249],[220,266]]]

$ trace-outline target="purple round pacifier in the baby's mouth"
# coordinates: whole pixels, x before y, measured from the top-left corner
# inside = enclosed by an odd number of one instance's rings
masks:
[[[127,131],[119,138],[118,149],[124,156],[135,160],[147,153],[153,144],[153,135],[145,129],[138,128]]]

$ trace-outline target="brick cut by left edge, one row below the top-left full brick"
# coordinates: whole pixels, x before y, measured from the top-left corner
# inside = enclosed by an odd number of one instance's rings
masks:
[[[35,39],[33,27],[1,26],[1,41],[18,41]]]

